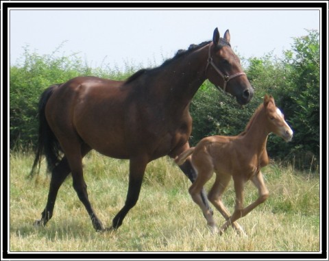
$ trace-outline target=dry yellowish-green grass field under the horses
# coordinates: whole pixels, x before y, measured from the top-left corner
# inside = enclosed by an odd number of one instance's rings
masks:
[[[95,232],[68,177],[60,188],[53,218],[35,228],[45,208],[49,176],[27,179],[32,155],[10,155],[10,251],[319,251],[319,173],[300,173],[291,166],[263,169],[270,197],[239,220],[247,236],[232,228],[211,234],[199,207],[188,195],[190,182],[172,160],[147,166],[141,196],[116,232]],[[43,162],[44,164],[44,162]],[[127,193],[127,161],[90,153],[84,177],[90,202],[109,227]],[[213,179],[212,179],[213,181]],[[210,181],[210,183],[212,182]],[[245,205],[256,199],[248,183]],[[223,196],[232,212],[232,182]],[[218,225],[223,217],[215,210]]]

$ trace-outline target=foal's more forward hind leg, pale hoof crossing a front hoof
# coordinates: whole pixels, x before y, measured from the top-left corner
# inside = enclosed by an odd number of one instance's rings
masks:
[[[209,194],[208,199],[209,201],[217,208],[217,210],[221,213],[221,215],[226,219],[230,219],[230,212],[226,209],[226,207],[223,204],[223,201],[221,200],[221,197],[223,195],[223,192],[226,190],[226,187],[230,183],[231,176],[230,175],[220,175],[219,173],[216,173],[216,180],[215,184],[212,186]],[[245,234],[243,231],[243,228],[239,223],[232,222],[232,227],[238,232],[239,234]]]

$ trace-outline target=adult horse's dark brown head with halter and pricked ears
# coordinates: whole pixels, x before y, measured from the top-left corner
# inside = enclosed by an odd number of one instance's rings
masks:
[[[243,73],[240,60],[230,45],[230,32],[226,30],[220,38],[216,28],[208,49],[208,64],[206,77],[221,86],[224,92],[229,92],[236,97],[241,105],[248,103],[254,95],[254,88]]]

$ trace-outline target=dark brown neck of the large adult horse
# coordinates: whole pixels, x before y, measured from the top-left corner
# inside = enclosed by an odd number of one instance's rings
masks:
[[[155,84],[156,97],[161,93],[162,101],[175,112],[185,110],[206,80],[207,55],[208,45],[182,55],[160,69],[157,77],[163,77],[164,84]]]

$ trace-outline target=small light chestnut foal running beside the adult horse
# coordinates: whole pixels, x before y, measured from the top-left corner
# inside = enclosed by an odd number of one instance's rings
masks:
[[[245,131],[240,135],[204,138],[196,147],[184,151],[175,159],[175,162],[180,165],[192,154],[191,160],[193,168],[197,172],[197,179],[188,191],[193,201],[202,209],[208,225],[214,231],[217,231],[217,227],[212,213],[202,201],[199,192],[215,171],[215,184],[210,189],[208,199],[226,219],[226,223],[221,226],[219,233],[223,233],[228,226],[232,225],[237,232],[244,234],[236,220],[248,214],[269,196],[260,169],[269,163],[266,143],[267,136],[271,132],[286,141],[293,138],[293,131],[284,121],[282,112],[276,108],[273,97],[266,95],[264,103],[258,107]],[[235,210],[232,216],[221,201],[231,176],[236,193]],[[243,188],[249,179],[258,188],[259,197],[254,203],[243,208]]]

